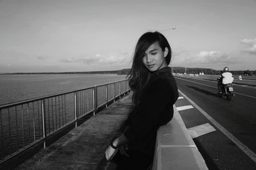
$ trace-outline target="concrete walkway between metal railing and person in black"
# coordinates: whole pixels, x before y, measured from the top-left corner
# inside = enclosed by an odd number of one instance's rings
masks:
[[[121,98],[16,169],[105,169],[105,150],[131,109],[131,95]]]

